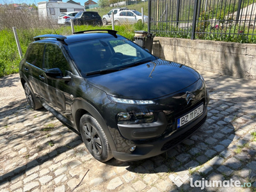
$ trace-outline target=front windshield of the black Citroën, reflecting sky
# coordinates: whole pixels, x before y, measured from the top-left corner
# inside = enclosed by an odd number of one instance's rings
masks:
[[[139,45],[123,38],[100,38],[77,42],[66,47],[83,76],[113,72],[157,58]]]

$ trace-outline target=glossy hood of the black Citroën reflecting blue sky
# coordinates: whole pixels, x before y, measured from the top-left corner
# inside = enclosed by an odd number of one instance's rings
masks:
[[[179,92],[200,79],[185,65],[164,60],[86,78],[109,95],[125,99],[156,99]]]

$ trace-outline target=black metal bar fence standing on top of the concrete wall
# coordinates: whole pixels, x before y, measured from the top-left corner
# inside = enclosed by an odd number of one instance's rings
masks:
[[[256,43],[256,0],[149,0],[158,36]]]

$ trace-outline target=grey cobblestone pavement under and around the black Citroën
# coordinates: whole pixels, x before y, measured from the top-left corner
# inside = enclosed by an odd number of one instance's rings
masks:
[[[128,163],[93,159],[79,135],[29,108],[17,74],[1,78],[0,191],[256,191],[256,81],[202,74],[211,96],[204,126],[160,156]],[[231,179],[247,188],[226,188]],[[196,188],[206,180],[225,187]]]

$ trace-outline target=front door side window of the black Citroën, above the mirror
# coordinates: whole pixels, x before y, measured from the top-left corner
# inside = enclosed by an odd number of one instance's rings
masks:
[[[47,44],[45,47],[44,69],[49,68],[60,68],[63,74],[65,74],[65,70],[71,71],[60,47],[54,44]]]

